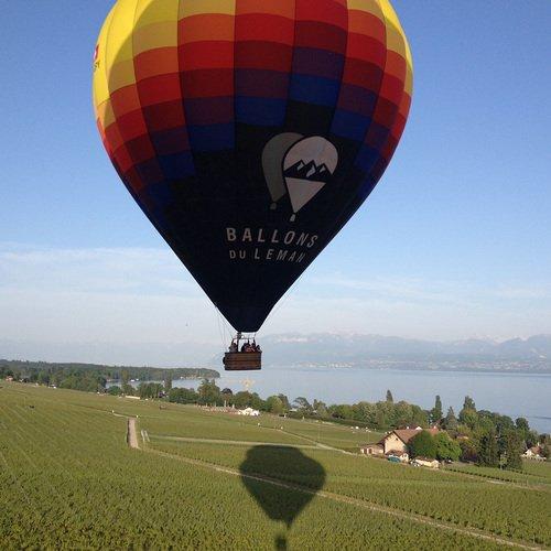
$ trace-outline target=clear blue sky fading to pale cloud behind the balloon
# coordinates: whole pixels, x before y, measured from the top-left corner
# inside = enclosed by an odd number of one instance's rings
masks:
[[[91,55],[111,4],[0,1],[0,310],[9,314],[0,332],[9,339],[217,331],[97,136]],[[266,332],[551,333],[551,2],[393,4],[415,64],[404,138]]]

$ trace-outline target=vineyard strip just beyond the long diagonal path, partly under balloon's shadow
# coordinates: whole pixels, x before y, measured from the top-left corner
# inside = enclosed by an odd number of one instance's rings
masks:
[[[155,440],[151,445],[173,454],[306,487],[315,485],[301,469],[295,451],[263,446],[251,461],[246,446],[222,446]],[[480,529],[529,543],[551,544],[551,491],[493,485],[451,472],[439,473],[380,460],[303,450],[326,473],[324,489],[369,503]]]

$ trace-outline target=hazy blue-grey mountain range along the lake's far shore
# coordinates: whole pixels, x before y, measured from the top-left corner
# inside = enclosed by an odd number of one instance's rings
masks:
[[[258,339],[270,366],[365,367],[551,374],[551,335],[497,342],[421,341],[361,334],[266,335]],[[229,343],[228,343],[229,344]],[[193,366],[222,370],[218,343],[37,343],[0,338],[0,358],[106,365]]]

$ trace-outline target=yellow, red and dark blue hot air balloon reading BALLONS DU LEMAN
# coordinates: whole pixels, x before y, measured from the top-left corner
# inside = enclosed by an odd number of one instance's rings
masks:
[[[116,171],[238,337],[371,193],[411,93],[388,0],[118,0],[94,56]]]

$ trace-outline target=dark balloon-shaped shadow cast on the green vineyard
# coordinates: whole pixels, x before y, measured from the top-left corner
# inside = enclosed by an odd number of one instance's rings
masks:
[[[239,471],[241,482],[264,514],[276,522],[284,522],[287,531],[325,483],[323,466],[291,446],[253,446]],[[260,477],[282,485],[262,482]],[[287,549],[285,533],[276,538],[276,549]]]

